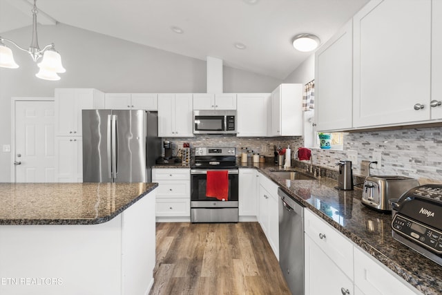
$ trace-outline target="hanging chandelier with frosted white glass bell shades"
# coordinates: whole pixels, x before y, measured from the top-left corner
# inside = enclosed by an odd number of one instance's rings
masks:
[[[19,65],[15,63],[12,50],[6,46],[5,41],[10,42],[20,50],[26,51],[32,57],[32,60],[37,62],[40,57],[41,62],[37,64],[40,70],[35,74],[40,79],[56,81],[60,77],[57,73],[65,73],[66,69],[61,65],[61,56],[55,50],[54,44],[48,44],[43,49],[39,48],[39,42],[37,39],[37,0],[34,0],[34,8],[32,8],[32,41],[28,49],[21,48],[14,41],[0,37],[0,67],[2,68],[18,68]]]

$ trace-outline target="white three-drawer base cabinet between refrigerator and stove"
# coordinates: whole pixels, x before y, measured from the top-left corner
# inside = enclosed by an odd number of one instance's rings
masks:
[[[157,182],[157,222],[190,221],[191,189],[189,169],[152,169]]]

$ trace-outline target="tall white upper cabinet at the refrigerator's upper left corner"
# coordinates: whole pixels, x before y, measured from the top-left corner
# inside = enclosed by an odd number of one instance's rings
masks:
[[[57,136],[81,136],[81,110],[104,108],[104,93],[91,88],[55,88]]]

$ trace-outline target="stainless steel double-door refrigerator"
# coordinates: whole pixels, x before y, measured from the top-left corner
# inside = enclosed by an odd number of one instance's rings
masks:
[[[157,113],[83,110],[83,182],[151,182],[161,155]]]

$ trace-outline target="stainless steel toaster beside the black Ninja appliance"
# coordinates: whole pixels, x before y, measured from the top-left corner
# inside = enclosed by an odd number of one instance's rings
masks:
[[[365,178],[362,203],[379,211],[392,211],[390,198],[400,198],[403,193],[419,186],[414,178],[397,175],[371,175]]]

